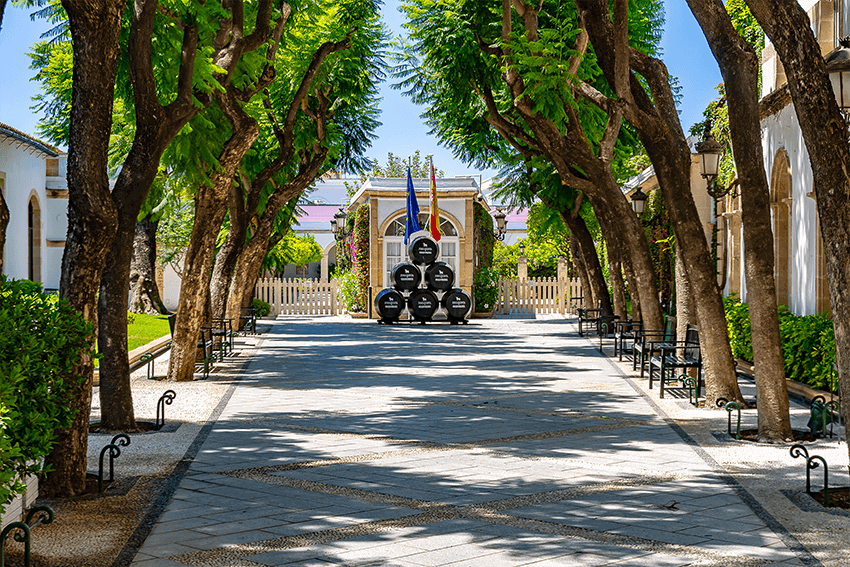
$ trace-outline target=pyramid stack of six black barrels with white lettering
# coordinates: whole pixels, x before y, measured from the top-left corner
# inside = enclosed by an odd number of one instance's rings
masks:
[[[445,262],[437,262],[437,242],[427,234],[411,239],[407,247],[410,263],[393,268],[393,287],[375,296],[378,323],[397,323],[405,308],[408,318],[423,325],[434,320],[442,307],[446,320],[456,325],[466,323],[472,311],[472,298],[454,287],[455,274]]]

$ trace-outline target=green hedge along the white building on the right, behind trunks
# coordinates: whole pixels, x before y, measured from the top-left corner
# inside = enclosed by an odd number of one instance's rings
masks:
[[[736,295],[726,297],[723,305],[732,355],[752,362],[749,306]],[[832,372],[835,335],[828,316],[800,316],[782,307],[779,309],[779,334],[787,378],[819,390],[838,391],[838,377]]]

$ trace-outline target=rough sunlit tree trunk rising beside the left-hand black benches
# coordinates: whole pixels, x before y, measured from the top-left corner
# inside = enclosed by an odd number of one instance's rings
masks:
[[[257,121],[248,116],[228,88],[216,94],[216,101],[231,123],[232,134],[219,155],[219,170],[209,186],[198,189],[195,204],[195,225],[183,265],[180,303],[171,343],[168,379],[192,380],[198,334],[206,322],[204,312],[209,305],[211,266],[215,243],[227,208],[227,196],[234,183],[242,158],[260,135]]]

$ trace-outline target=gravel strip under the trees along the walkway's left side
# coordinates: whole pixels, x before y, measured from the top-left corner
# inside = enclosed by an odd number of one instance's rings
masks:
[[[262,331],[262,328],[260,329]],[[56,521],[33,530],[33,567],[122,567],[129,565],[166,502],[158,496],[174,482],[181,459],[238,380],[262,335],[238,337],[233,356],[213,368],[207,380],[165,382],[168,352],[154,362],[154,380],[147,367],[132,374],[133,403],[138,422],[156,419],[157,401],[166,390],[176,394],[165,406],[160,431],[130,434],[114,461],[115,482],[103,497],[87,495],[73,500],[39,500],[56,512]],[[91,422],[100,421],[99,388],[94,389]],[[88,471],[97,474],[100,452],[113,434],[89,435]],[[104,464],[108,471],[108,460]],[[105,473],[108,477],[108,472]],[[154,517],[151,517],[151,516]],[[146,517],[147,516],[147,517]],[[23,565],[22,545],[9,538],[7,566]]]

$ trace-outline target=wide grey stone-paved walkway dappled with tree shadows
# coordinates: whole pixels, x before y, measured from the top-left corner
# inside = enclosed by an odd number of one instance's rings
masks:
[[[568,320],[258,348],[134,567],[821,564]]]

